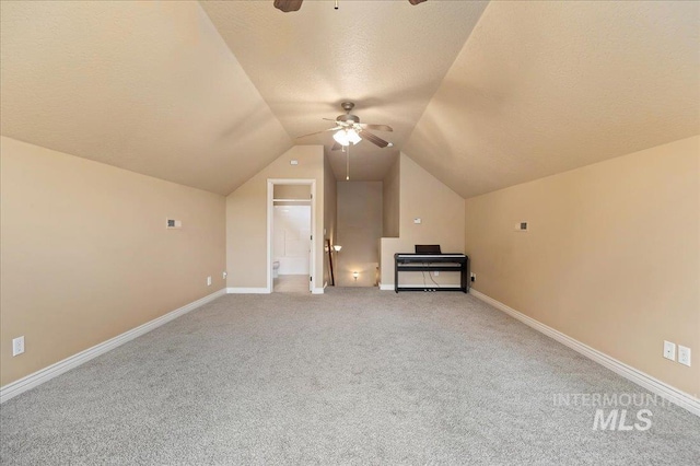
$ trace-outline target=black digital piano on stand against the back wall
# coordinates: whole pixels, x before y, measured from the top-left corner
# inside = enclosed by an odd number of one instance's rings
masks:
[[[401,287],[398,284],[400,271],[458,271],[460,286]],[[394,255],[394,291],[469,291],[469,257],[464,254],[400,254]]]

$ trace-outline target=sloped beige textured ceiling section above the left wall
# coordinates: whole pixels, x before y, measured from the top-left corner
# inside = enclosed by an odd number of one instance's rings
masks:
[[[0,5],[3,136],[220,194],[292,147],[196,2]]]

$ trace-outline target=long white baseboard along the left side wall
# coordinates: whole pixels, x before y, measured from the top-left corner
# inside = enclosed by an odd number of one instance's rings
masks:
[[[61,375],[70,371],[71,369],[84,364],[91,359],[94,359],[100,354],[104,354],[105,352],[113,350],[126,343],[127,341],[140,337],[143,334],[148,334],[149,331],[160,327],[161,325],[166,324],[183,314],[187,314],[188,312],[196,310],[197,307],[207,304],[208,302],[213,301],[219,296],[223,296],[224,294],[225,289],[222,288],[221,290],[211,293],[200,300],[186,304],[183,307],[154,318],[151,322],[147,322],[145,324],[125,331],[121,335],[117,335],[116,337],[95,345],[92,348],[88,348],[86,350],[66,358],[62,361],[58,361],[57,363],[51,364],[48,368],[38,370],[33,374],[20,378],[19,381],[7,384],[5,386],[0,387],[0,404],[7,401],[8,399],[14,398],[15,396],[31,388],[34,388],[35,386],[40,385],[44,382],[50,381],[51,378]]]

